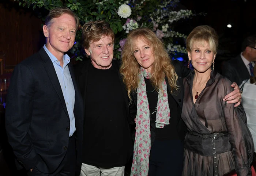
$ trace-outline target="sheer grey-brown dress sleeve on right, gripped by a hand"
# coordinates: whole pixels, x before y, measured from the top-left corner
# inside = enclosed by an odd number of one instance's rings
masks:
[[[226,83],[227,92],[232,91],[230,85]],[[244,119],[241,118],[241,108],[234,108],[234,104],[223,106],[225,123],[229,135],[229,142],[232,148],[232,154],[236,163],[236,173],[238,176],[251,176],[251,164],[253,160],[254,145],[252,135],[246,126]]]

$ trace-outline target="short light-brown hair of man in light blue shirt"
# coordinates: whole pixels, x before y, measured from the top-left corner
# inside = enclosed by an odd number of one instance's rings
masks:
[[[59,18],[63,14],[69,14],[74,17],[76,21],[76,29],[78,28],[79,25],[79,19],[78,16],[69,8],[67,7],[56,7],[50,10],[49,14],[45,18],[45,25],[50,27],[52,24],[52,19],[53,18]]]

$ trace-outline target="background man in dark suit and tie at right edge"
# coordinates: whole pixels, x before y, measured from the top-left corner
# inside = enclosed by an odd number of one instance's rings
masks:
[[[245,38],[242,43],[242,53],[224,64],[222,74],[230,81],[240,85],[243,80],[253,76],[253,66],[255,61],[256,35],[253,35]]]

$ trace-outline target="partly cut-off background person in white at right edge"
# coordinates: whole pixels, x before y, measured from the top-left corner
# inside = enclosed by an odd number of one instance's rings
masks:
[[[254,156],[256,161],[256,66],[253,68],[254,76],[244,80],[240,85],[242,92],[242,106],[247,117],[247,126],[251,131],[254,142]]]

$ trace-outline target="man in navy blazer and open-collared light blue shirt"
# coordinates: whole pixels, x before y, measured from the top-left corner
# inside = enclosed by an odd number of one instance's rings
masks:
[[[43,26],[46,44],[12,74],[6,106],[8,141],[17,166],[32,176],[74,176],[80,162],[82,99],[65,54],[74,45],[78,24],[70,9],[52,9]]]

